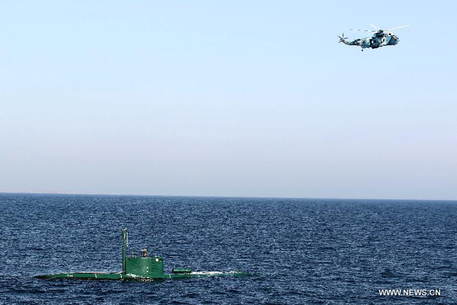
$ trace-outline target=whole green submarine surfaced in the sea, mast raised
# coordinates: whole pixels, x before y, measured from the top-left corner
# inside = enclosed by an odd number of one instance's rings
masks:
[[[154,280],[154,279],[183,279],[202,278],[211,276],[248,276],[253,273],[242,271],[192,271],[189,268],[173,268],[172,273],[164,273],[164,259],[147,256],[147,250],[142,250],[140,257],[126,256],[128,247],[127,229],[122,229],[122,271],[121,272],[69,272],[39,275],[39,279],[77,279],[77,280]]]

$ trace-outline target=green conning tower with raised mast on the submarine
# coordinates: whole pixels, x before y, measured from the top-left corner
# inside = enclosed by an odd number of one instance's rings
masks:
[[[147,250],[142,250],[142,256],[127,257],[128,247],[127,229],[122,229],[122,273],[139,277],[162,277],[164,276],[164,259],[161,257],[147,256]]]

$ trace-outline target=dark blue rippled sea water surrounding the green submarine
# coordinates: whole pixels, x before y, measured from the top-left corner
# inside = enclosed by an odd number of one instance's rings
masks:
[[[1,303],[457,303],[457,202],[0,194]],[[173,267],[256,277],[43,280],[120,271],[148,248]],[[441,289],[440,297],[379,289]]]

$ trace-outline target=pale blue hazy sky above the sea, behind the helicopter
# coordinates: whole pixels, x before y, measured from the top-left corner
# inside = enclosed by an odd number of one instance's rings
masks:
[[[0,191],[457,199],[456,9],[3,0]]]

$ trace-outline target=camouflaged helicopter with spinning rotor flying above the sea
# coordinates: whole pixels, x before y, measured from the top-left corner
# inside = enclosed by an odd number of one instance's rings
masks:
[[[371,31],[369,29],[349,29],[348,31],[375,32],[375,34],[373,34],[372,37],[358,38],[353,41],[346,41],[345,39],[347,39],[347,37],[344,37],[344,33],[343,33],[343,37],[338,36],[338,38],[340,39],[340,41],[338,41],[338,43],[342,42],[348,46],[360,46],[360,47],[362,47],[362,51],[366,48],[377,49],[377,48],[380,48],[383,46],[395,46],[396,44],[398,44],[400,39],[395,34],[389,32],[389,31],[392,31],[393,29],[409,26],[409,24],[408,24],[408,25],[397,26],[394,28],[389,28],[389,29],[384,30],[384,29],[377,28],[376,26],[374,26],[371,23],[370,23],[370,25],[373,26],[376,29],[376,31]]]

